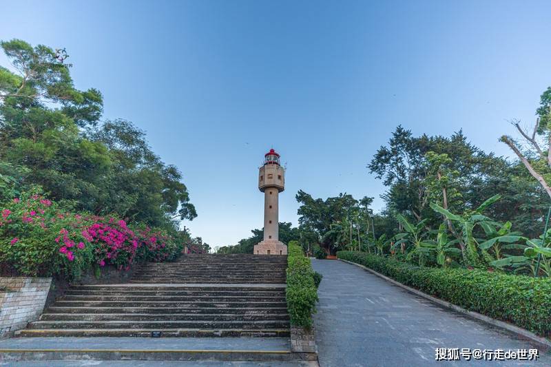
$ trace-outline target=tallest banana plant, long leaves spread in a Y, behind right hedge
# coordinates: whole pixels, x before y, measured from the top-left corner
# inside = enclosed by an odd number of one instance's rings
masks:
[[[486,210],[486,208],[497,202],[500,198],[500,195],[492,196],[474,211],[468,210],[461,215],[454,214],[434,202],[430,203],[430,207],[434,211],[441,213],[446,219],[457,224],[457,231],[452,226],[453,234],[456,236],[457,240],[459,240],[459,247],[461,247],[461,253],[466,265],[481,266],[481,260],[477,250],[477,247],[479,247],[479,242],[475,238],[473,232],[477,226],[484,228],[486,224],[491,225],[495,223],[482,213]]]

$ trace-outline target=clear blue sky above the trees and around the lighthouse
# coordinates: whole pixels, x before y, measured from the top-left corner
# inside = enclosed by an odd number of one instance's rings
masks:
[[[2,1],[0,39],[66,48],[105,118],[147,132],[183,172],[209,244],[262,227],[258,166],[288,162],[298,189],[375,196],[366,165],[398,124],[463,129],[510,156],[506,122],[534,120],[551,85],[550,1]],[[0,56],[1,65],[6,59]]]

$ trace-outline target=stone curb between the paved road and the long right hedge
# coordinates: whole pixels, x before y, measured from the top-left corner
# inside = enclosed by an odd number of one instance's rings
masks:
[[[459,313],[462,313],[464,315],[467,315],[468,317],[471,317],[473,319],[477,319],[481,322],[485,322],[486,324],[490,324],[492,326],[497,326],[498,328],[503,328],[507,331],[510,331],[511,333],[515,333],[517,335],[521,335],[522,337],[525,337],[527,339],[532,340],[533,342],[536,342],[538,344],[542,344],[546,346],[547,348],[551,348],[551,341],[548,339],[545,339],[544,337],[540,337],[539,335],[536,335],[532,333],[531,331],[528,331],[523,328],[519,328],[518,326],[514,326],[511,324],[508,324],[507,322],[499,321],[497,319],[492,319],[492,317],[488,317],[486,315],[482,315],[481,313],[477,313],[475,311],[468,311],[465,308],[459,307],[456,304],[446,302],[443,300],[440,300],[437,297],[433,297],[432,295],[428,295],[426,293],[423,293],[422,291],[419,291],[415,288],[411,288],[410,286],[406,286],[400,282],[397,282],[396,280],[393,280],[391,277],[387,277],[386,275],[382,275],[381,273],[377,273],[377,271],[374,271],[373,269],[369,269],[367,266],[364,266],[362,264],[356,264],[355,262],[351,262],[349,260],[343,260],[339,259],[342,262],[347,262],[349,264],[353,264],[355,266],[358,266],[366,271],[369,271],[370,273],[373,273],[377,275],[378,277],[382,277],[384,280],[391,282],[392,284],[399,286],[402,289],[405,289],[406,291],[410,293],[414,293],[415,295],[419,295],[419,297],[423,297],[426,300],[429,300],[431,302],[434,302],[436,304],[439,304],[441,306],[451,308],[454,311],[457,311]]]

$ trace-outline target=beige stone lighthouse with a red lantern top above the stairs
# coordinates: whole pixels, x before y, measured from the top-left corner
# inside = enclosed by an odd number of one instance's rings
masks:
[[[285,189],[285,169],[280,155],[270,149],[264,165],[258,169],[258,189],[264,193],[264,240],[254,247],[256,255],[287,255],[287,246],[279,240],[279,193]]]

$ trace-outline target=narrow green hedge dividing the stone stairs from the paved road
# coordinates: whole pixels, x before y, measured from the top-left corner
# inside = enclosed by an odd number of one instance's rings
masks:
[[[286,297],[291,325],[310,328],[315,303],[318,302],[312,264],[296,241],[289,242],[287,253]]]

